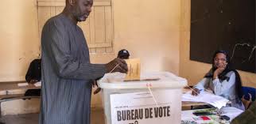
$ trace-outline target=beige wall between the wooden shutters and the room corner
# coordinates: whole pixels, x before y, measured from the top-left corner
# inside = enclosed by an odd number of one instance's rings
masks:
[[[114,0],[114,50],[141,58],[142,71],[179,72],[180,1]]]

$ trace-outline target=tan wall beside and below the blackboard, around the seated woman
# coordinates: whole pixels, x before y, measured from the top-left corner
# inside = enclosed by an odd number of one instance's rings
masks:
[[[180,77],[188,79],[189,85],[195,85],[211,69],[210,64],[189,59],[190,45],[190,0],[181,0],[180,20]],[[256,88],[256,73],[239,71],[242,85]]]

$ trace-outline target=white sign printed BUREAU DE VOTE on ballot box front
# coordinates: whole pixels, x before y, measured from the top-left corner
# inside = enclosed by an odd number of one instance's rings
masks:
[[[167,124],[174,120],[179,122],[180,89],[163,89],[152,93],[156,102],[150,92],[112,94],[111,124]]]

